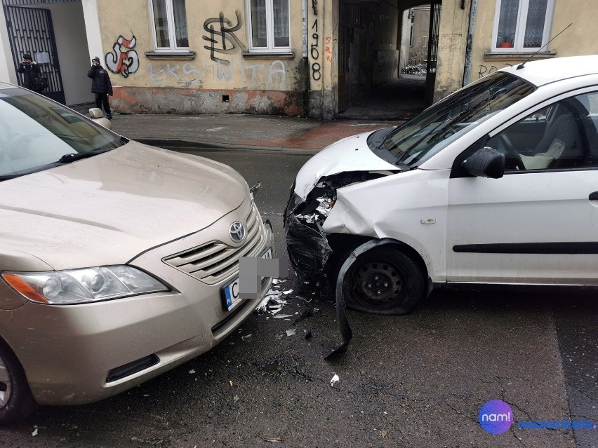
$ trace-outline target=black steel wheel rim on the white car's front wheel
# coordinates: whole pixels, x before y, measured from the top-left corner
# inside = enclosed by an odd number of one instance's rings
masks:
[[[392,308],[404,299],[407,278],[386,260],[361,262],[352,270],[353,297],[367,308]]]

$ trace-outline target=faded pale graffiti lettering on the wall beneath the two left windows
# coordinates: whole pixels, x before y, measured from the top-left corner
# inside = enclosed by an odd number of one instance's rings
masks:
[[[280,60],[272,61],[270,67],[264,64],[245,64],[242,61],[237,65],[224,65],[220,62],[211,65],[195,65],[192,62],[183,65],[150,64],[152,84],[176,83],[191,87],[208,78],[230,81],[234,74],[239,74],[241,81],[251,83],[254,88],[267,86],[273,90],[286,89],[286,67]]]

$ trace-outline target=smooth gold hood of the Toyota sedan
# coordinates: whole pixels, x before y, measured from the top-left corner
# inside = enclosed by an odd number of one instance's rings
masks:
[[[204,229],[247,195],[226,165],[129,142],[0,182],[0,269],[14,269],[11,251],[53,269],[122,264]]]

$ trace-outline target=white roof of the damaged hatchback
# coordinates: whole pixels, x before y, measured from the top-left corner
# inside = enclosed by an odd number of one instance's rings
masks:
[[[598,55],[555,57],[539,61],[530,61],[524,67],[517,69],[520,64],[501,69],[532,83],[534,86],[554,83],[562,79],[575,78],[589,74],[598,74]]]

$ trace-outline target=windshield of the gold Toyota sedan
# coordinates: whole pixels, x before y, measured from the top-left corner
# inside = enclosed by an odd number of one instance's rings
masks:
[[[125,142],[41,95],[0,88],[0,180],[109,151]]]

